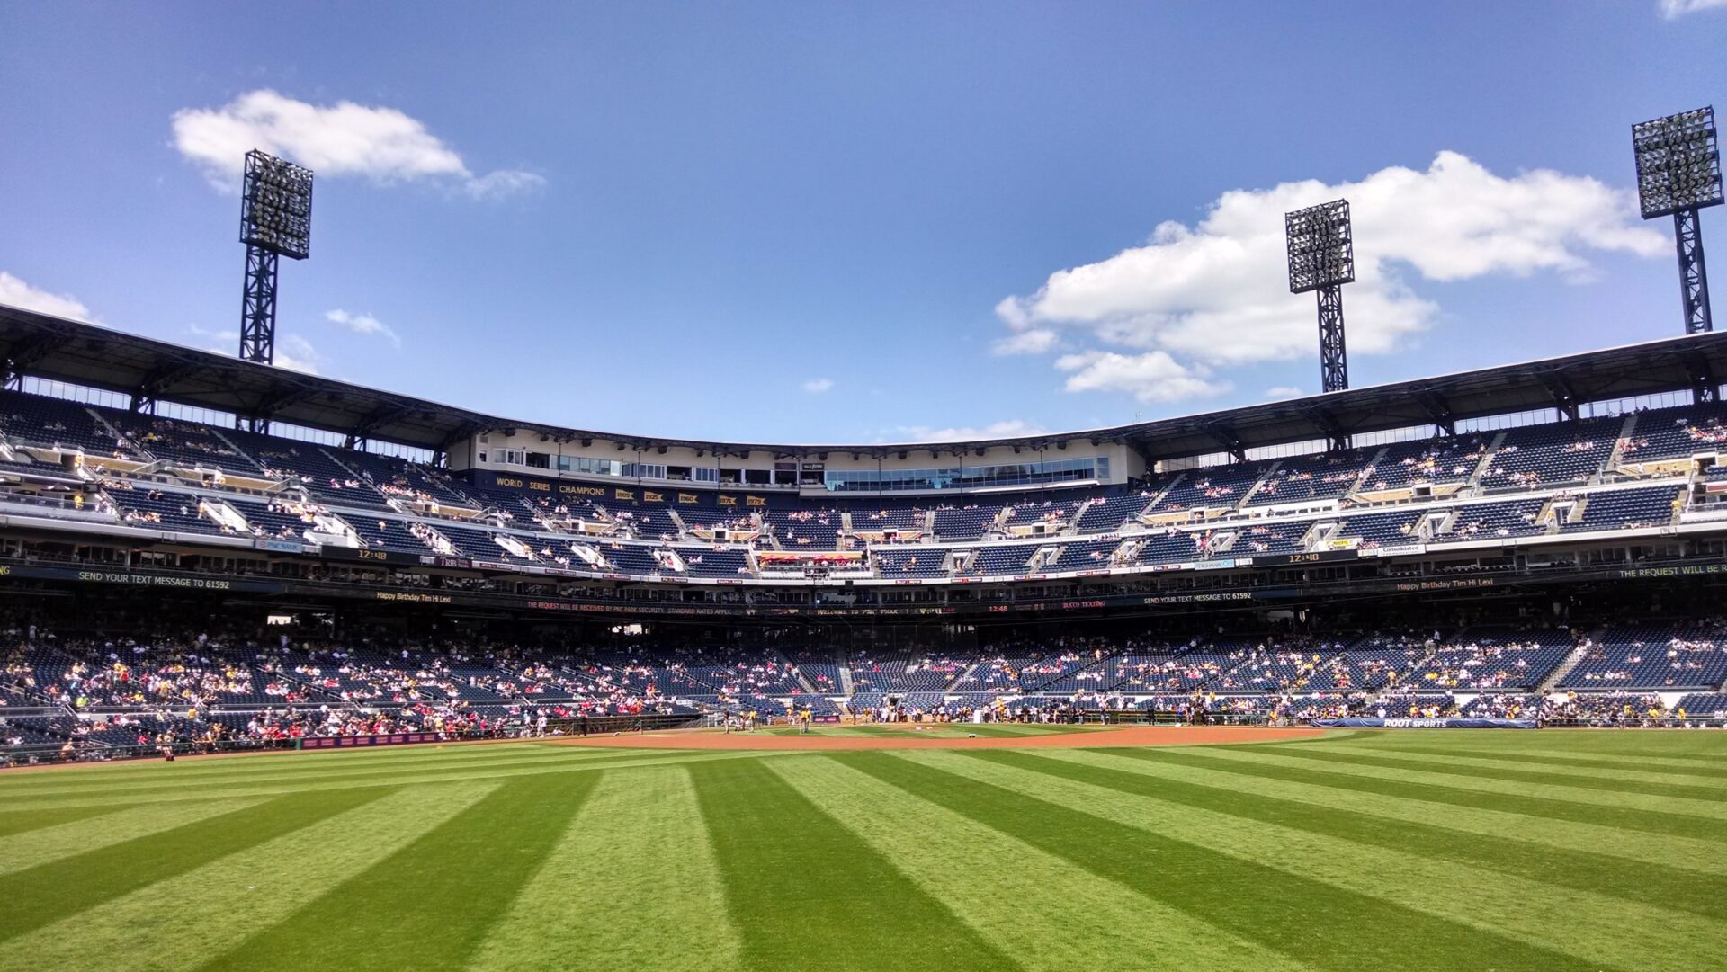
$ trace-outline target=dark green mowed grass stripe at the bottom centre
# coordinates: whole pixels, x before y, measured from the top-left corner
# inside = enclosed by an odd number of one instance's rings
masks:
[[[689,773],[748,969],[1017,967],[762,760]]]

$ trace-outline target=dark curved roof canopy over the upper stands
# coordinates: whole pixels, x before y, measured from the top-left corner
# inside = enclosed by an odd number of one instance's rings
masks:
[[[1148,459],[1174,459],[1547,407],[1575,414],[1585,402],[1718,387],[1727,376],[1727,331],[1112,428],[867,445],[708,442],[520,421],[5,306],[0,306],[0,359],[9,380],[28,375],[69,382],[135,401],[178,402],[432,451],[475,432],[513,428],[561,440],[603,439],[639,449],[687,445],[717,454],[958,454],[988,445],[1043,449],[1093,440],[1126,442]]]

